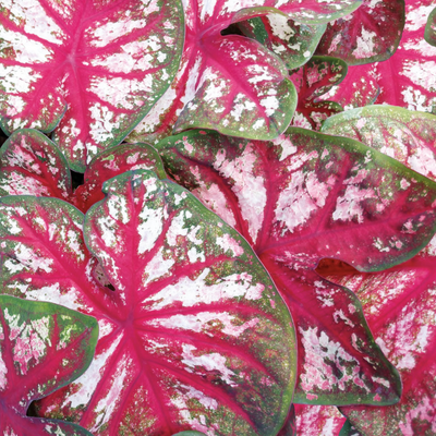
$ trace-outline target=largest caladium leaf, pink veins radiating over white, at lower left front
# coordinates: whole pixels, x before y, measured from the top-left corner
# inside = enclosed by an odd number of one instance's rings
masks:
[[[149,171],[111,179],[105,192],[84,225],[99,271],[73,206],[0,203],[4,289],[62,301],[100,325],[89,370],[39,412],[95,435],[276,435],[296,376],[294,330],[250,246]]]

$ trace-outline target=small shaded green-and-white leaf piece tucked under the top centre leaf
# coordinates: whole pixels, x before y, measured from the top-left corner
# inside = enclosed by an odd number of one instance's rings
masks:
[[[238,28],[280,57],[288,70],[293,70],[311,59],[326,25],[301,24],[286,15],[271,13],[238,23]]]

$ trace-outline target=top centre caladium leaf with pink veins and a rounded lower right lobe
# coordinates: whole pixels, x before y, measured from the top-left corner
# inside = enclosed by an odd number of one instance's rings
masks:
[[[286,65],[259,43],[221,32],[232,23],[280,11],[299,23],[317,25],[360,4],[359,0],[186,1],[186,39],[179,73],[130,141],[156,142],[170,135],[174,126],[175,131],[216,129],[257,140],[277,137],[296,105]]]

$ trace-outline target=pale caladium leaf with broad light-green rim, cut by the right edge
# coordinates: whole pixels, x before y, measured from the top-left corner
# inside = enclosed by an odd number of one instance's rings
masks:
[[[393,106],[370,106],[326,120],[323,132],[362,142],[436,180],[436,117]]]

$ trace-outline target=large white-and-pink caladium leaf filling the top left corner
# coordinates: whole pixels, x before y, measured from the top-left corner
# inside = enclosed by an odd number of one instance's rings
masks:
[[[0,116],[55,132],[75,171],[120,143],[172,82],[183,46],[179,0],[121,1],[108,8],[41,0],[0,9]],[[68,109],[66,109],[68,107]]]

